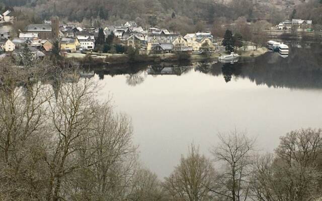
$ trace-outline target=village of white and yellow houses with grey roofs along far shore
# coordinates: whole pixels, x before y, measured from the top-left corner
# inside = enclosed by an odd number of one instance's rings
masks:
[[[217,59],[232,51],[240,57],[254,57],[269,51],[265,42],[269,36],[291,33],[294,29],[307,34],[312,32],[312,21],[293,19],[266,30],[265,38],[260,38],[257,43],[245,41],[240,34],[231,35],[234,44],[228,50],[222,44],[223,38],[214,37],[209,31],[183,36],[158,27],[144,29],[134,21],[120,26],[84,28],[61,24],[58,17],[52,17],[43,24],[30,24],[13,36],[11,25],[16,18],[10,14],[8,10],[0,15],[0,58],[19,56],[26,47],[37,58],[58,48],[55,51],[62,58],[99,63]]]

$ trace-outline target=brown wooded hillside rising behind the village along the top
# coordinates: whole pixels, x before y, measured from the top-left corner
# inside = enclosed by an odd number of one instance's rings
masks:
[[[232,23],[238,17],[272,24],[302,18],[322,24],[320,0],[0,0],[0,7],[13,8],[24,19],[29,13],[33,20],[57,15],[64,22],[85,26],[135,20],[141,26],[159,25],[184,32],[200,30],[218,20]]]

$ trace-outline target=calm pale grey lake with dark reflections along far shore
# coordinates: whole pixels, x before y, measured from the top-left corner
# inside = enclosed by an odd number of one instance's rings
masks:
[[[322,127],[322,49],[289,44],[234,64],[216,61],[93,68],[100,98],[132,118],[142,163],[168,176],[191,143],[211,157],[217,134],[234,129],[273,152],[291,130]]]

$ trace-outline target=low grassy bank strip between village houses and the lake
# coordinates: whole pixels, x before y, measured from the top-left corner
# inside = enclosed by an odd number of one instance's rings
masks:
[[[243,50],[237,50],[236,53],[240,57],[257,57],[268,52],[268,49],[265,47],[261,48],[245,48]],[[190,56],[185,55],[184,57],[173,54],[151,54],[151,55],[139,55],[136,61],[130,60],[127,54],[82,54],[82,53],[67,53],[66,58],[75,59],[83,64],[123,64],[123,63],[157,63],[164,61],[181,61],[181,60],[190,60],[190,61],[202,61],[207,59],[218,59],[221,55],[228,54],[226,51],[218,51],[212,53],[203,53],[203,54],[192,54]]]

